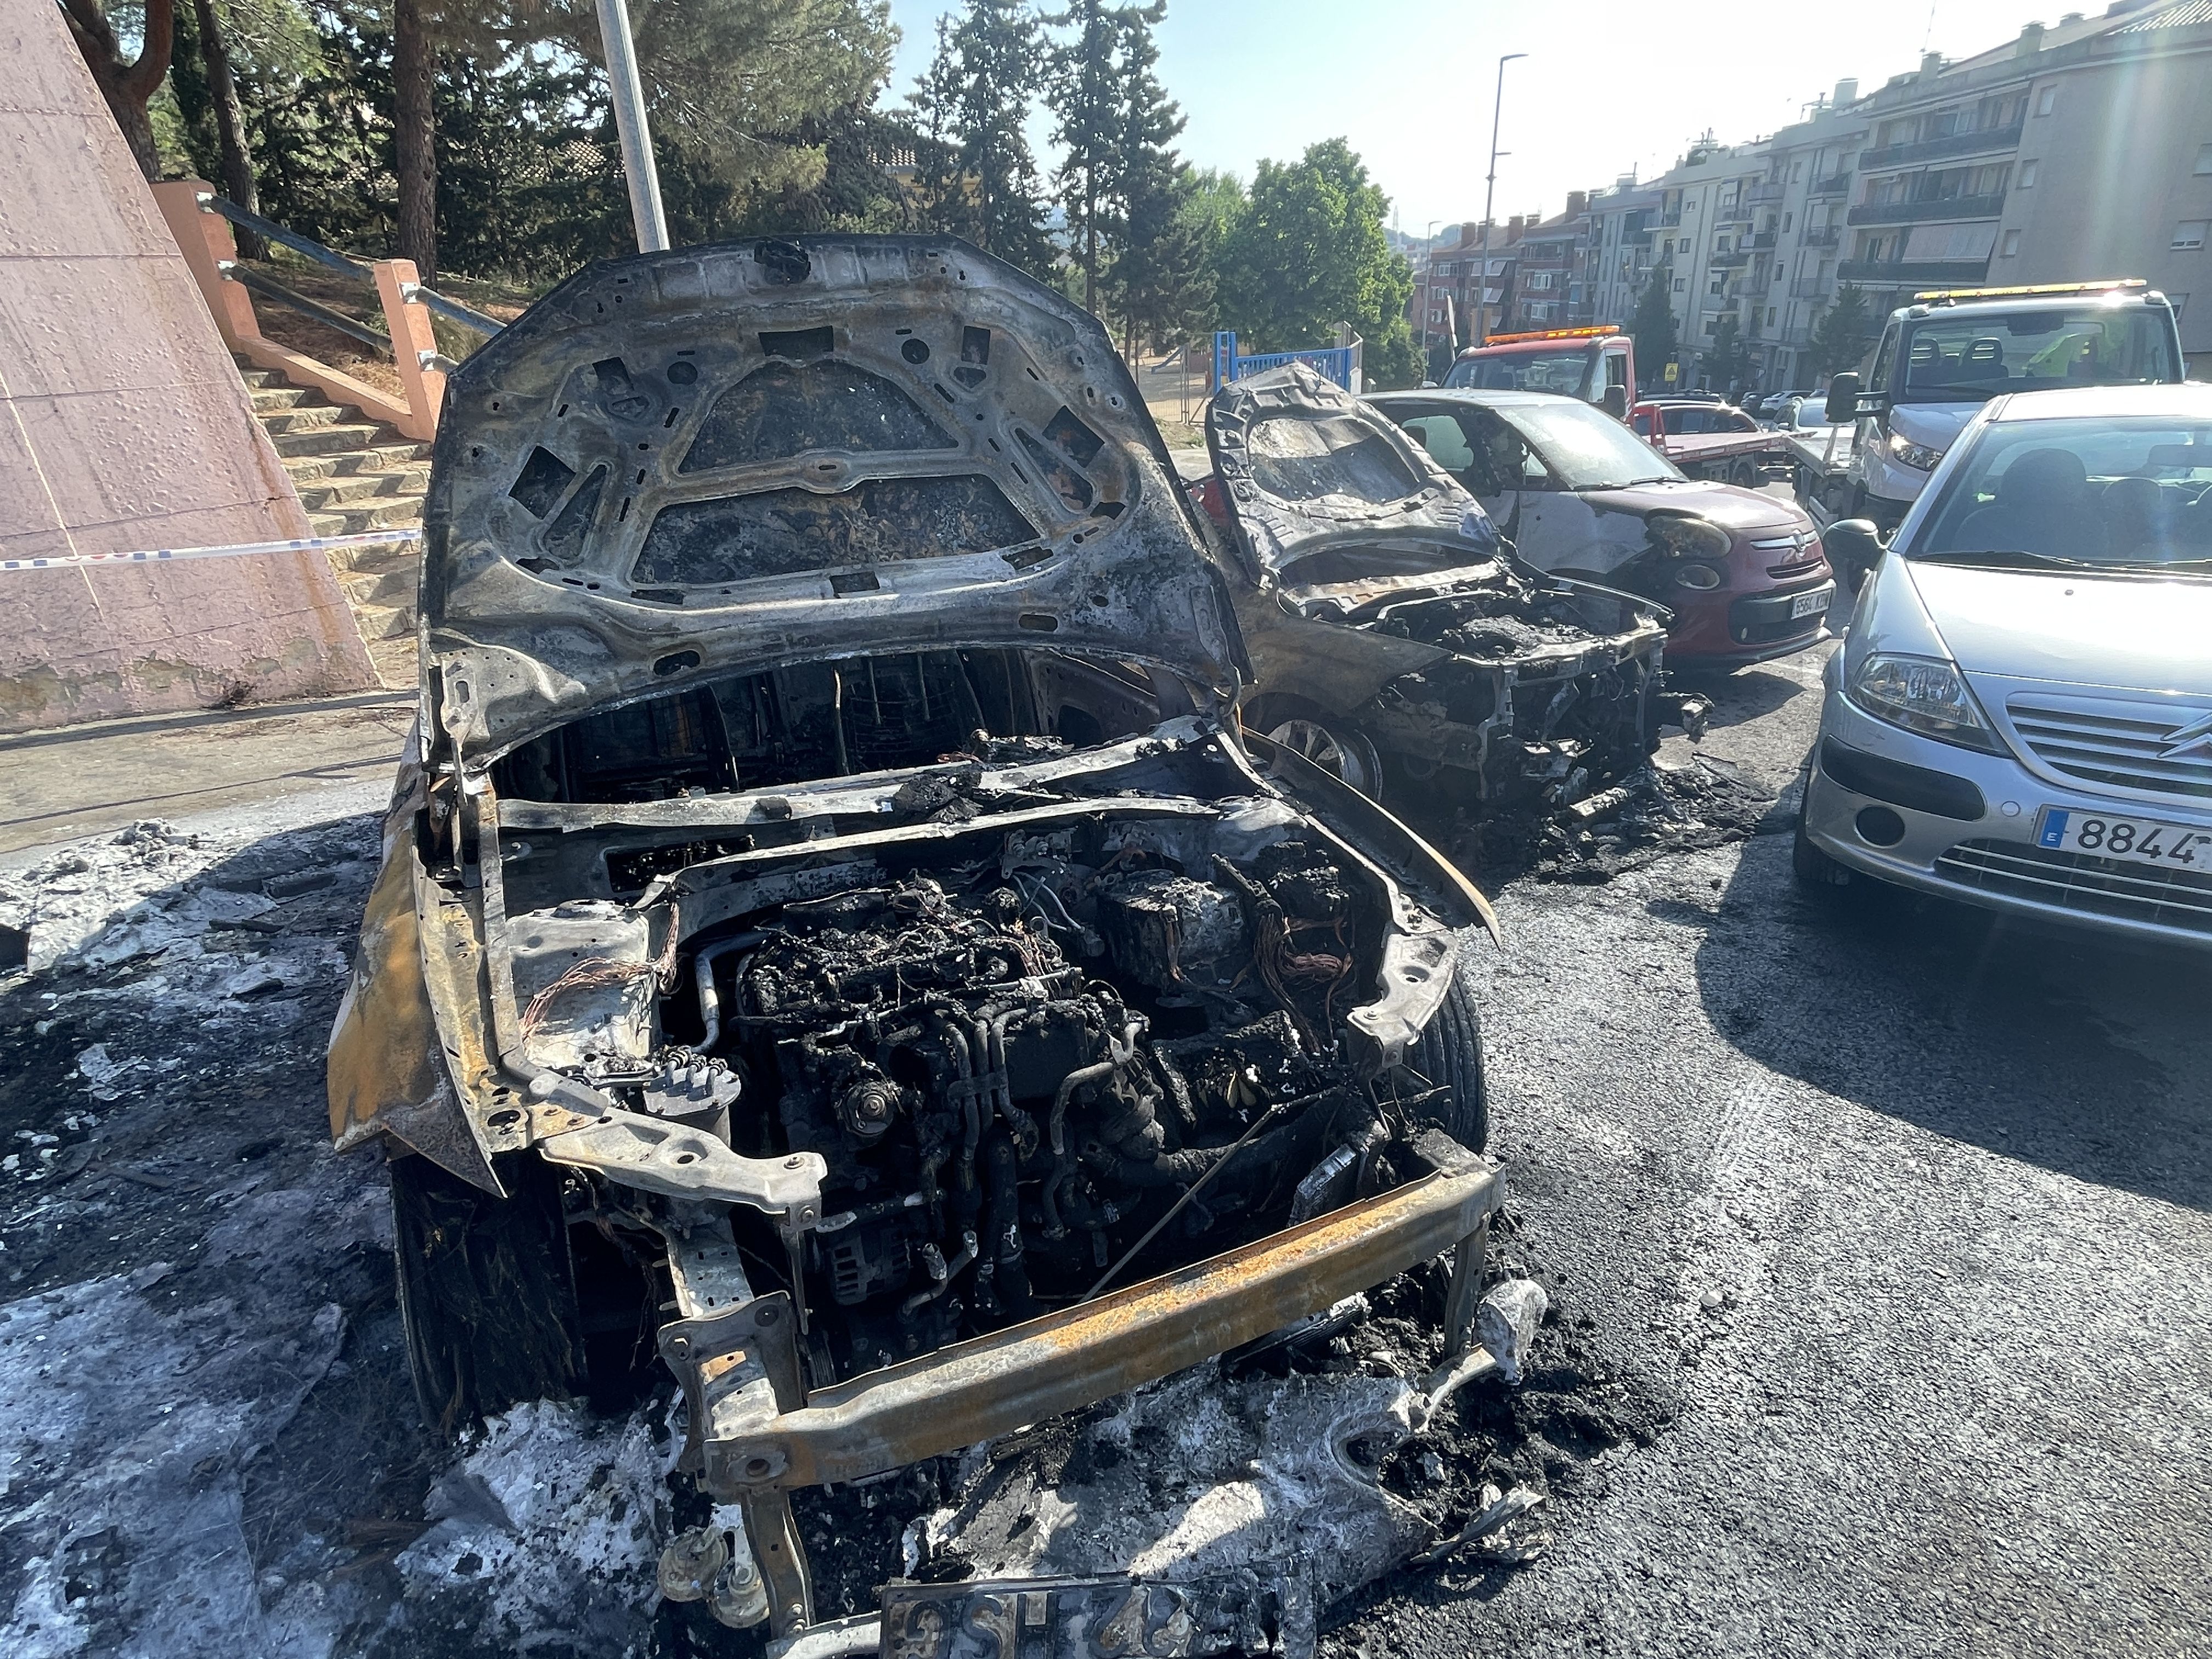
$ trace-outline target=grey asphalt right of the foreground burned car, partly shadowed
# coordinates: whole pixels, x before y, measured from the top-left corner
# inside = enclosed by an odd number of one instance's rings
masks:
[[[1801,894],[1816,659],[1719,697],[1770,834],[1486,951],[1520,1243],[1648,1444],[1336,1650],[2212,1652],[2205,960]]]

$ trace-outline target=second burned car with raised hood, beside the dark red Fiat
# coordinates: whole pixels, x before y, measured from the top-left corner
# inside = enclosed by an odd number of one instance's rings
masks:
[[[1546,575],[1402,427],[1305,363],[1208,407],[1243,719],[1356,790],[1566,805],[1661,719],[1663,608]]]

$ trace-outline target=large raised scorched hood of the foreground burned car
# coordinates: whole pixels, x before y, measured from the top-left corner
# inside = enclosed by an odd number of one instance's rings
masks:
[[[476,763],[695,679],[1053,646],[1232,697],[1241,648],[1099,323],[949,237],[641,254],[447,383],[422,684]]]

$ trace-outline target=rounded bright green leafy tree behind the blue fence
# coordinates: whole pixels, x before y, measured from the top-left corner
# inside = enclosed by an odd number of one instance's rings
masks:
[[[1383,234],[1389,197],[1345,139],[1261,161],[1219,252],[1223,323],[1270,352],[1332,345],[1349,323],[1376,385],[1409,385],[1420,361],[1405,321],[1413,268]]]

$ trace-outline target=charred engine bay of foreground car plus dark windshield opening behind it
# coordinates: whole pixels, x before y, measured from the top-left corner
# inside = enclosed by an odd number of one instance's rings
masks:
[[[1071,672],[936,653],[752,675],[498,772],[535,794],[511,818],[562,825],[502,841],[533,1057],[745,1157],[825,1159],[796,1256],[732,1210],[754,1292],[805,1312],[814,1387],[1391,1188],[1440,1115],[1345,1026],[1376,995],[1376,874],[1197,723],[1071,752]],[[792,792],[719,796],[730,823],[701,794],[768,783]],[[639,801],[692,821],[593,814]],[[896,838],[920,825],[942,834]],[[670,940],[664,989],[564,980],[641,967],[664,898],[714,918]]]

